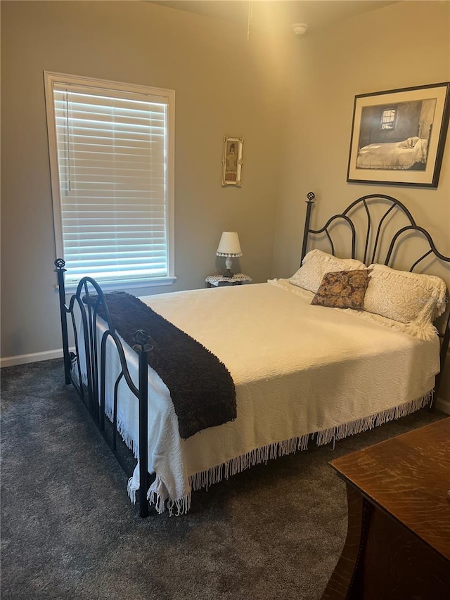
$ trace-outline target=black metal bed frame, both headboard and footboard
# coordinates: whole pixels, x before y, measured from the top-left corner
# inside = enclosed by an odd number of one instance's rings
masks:
[[[375,257],[379,250],[380,240],[382,239],[383,224],[386,223],[388,215],[392,215],[392,212],[399,210],[406,215],[409,219],[409,225],[401,227],[390,242],[389,249],[384,258],[384,264],[389,265],[394,249],[397,248],[397,241],[405,234],[405,232],[414,231],[418,234],[422,234],[430,245],[430,250],[420,256],[418,260],[413,262],[412,270],[420,264],[430,254],[434,254],[439,260],[444,262],[450,262],[450,257],[446,257],[439,253],[435,247],[434,242],[428,231],[423,227],[417,226],[409,210],[399,200],[392,198],[391,196],[385,196],[384,194],[370,194],[363,196],[355,200],[350,204],[344,212],[340,215],[333,215],[330,217],[326,224],[321,229],[311,229],[311,209],[314,205],[315,195],[312,192],[307,194],[307,213],[304,224],[304,236],[302,242],[302,256],[307,253],[307,247],[311,236],[325,234],[330,244],[331,253],[335,253],[335,245],[331,236],[333,226],[337,222],[345,222],[348,224],[351,232],[352,240],[352,258],[356,257],[356,227],[352,219],[349,217],[350,213],[353,213],[358,208],[363,208],[366,213],[366,238],[364,241],[364,264],[370,264],[375,262]],[[375,239],[371,243],[371,235],[374,230],[373,219],[371,217],[371,206],[380,205],[380,200],[387,203],[387,210],[380,219],[378,227],[375,231]],[[370,258],[369,258],[370,257]],[[380,258],[377,257],[378,262]],[[140,485],[139,487],[139,515],[141,517],[148,516],[148,501],[147,501],[147,490],[153,479],[148,474],[148,352],[151,352],[152,346],[148,343],[150,336],[146,331],[138,330],[135,333],[136,345],[133,346],[133,350],[139,355],[139,384],[134,385],[129,369],[127,366],[127,360],[124,355],[124,349],[122,342],[117,336],[115,326],[110,316],[107,301],[105,295],[101,290],[98,283],[91,279],[91,277],[83,277],[77,286],[77,291],[70,298],[70,302],[67,304],[65,300],[65,281],[64,273],[65,261],[62,258],[58,258],[55,261],[55,272],[58,276],[58,291],[59,291],[59,304],[60,304],[60,320],[61,320],[61,333],[63,338],[63,359],[64,359],[64,371],[65,371],[65,383],[74,385],[75,390],[82,402],[88,409],[89,414],[98,426],[103,437],[108,442],[110,449],[115,454],[115,457],[119,461],[120,465],[124,469],[127,475],[131,476],[129,467],[124,463],[120,456],[120,452],[117,451],[117,400],[118,400],[118,388],[119,383],[122,379],[127,383],[131,392],[136,396],[136,402],[139,402],[139,477],[141,482],[146,482],[146,485]],[[77,324],[76,311],[79,312],[81,317],[81,324]],[[102,318],[106,321],[107,328],[101,338],[100,344],[98,343],[96,329],[97,320],[99,317],[99,311],[102,314]],[[75,340],[75,352],[72,352],[69,347],[69,328],[68,320],[70,316],[70,322],[72,325],[73,337]],[[82,335],[79,335],[81,328]],[[80,339],[80,337],[82,339]],[[440,350],[440,371],[435,381],[434,394],[430,402],[430,410],[434,409],[435,397],[439,390],[439,384],[441,381],[442,369],[444,368],[444,362],[446,353],[450,343],[450,309],[447,307],[446,314],[444,316],[444,327],[442,332],[439,332],[439,338],[441,340]],[[106,372],[106,343],[111,340],[117,349],[117,354],[120,359],[121,371],[114,385],[114,406],[113,406],[113,435],[112,440],[105,433],[105,372]],[[80,364],[80,344],[82,345],[82,351],[84,353],[84,371],[82,373],[82,365]],[[100,347],[99,347],[100,346]],[[154,477],[154,476],[153,476]]]

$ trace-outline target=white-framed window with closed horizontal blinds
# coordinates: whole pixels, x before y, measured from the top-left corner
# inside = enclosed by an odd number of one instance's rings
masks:
[[[174,281],[174,91],[45,73],[56,251],[70,285]]]

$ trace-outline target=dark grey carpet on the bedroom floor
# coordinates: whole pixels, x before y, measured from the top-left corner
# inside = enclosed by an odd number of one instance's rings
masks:
[[[342,454],[445,416],[426,409],[256,466],[190,513],[141,519],[60,360],[1,370],[1,598],[316,600],[345,541]]]

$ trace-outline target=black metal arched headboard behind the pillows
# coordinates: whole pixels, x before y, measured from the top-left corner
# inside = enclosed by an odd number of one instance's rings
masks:
[[[321,227],[321,229],[312,229],[311,228],[311,210],[315,201],[314,192],[307,193],[307,213],[305,217],[304,223],[304,234],[302,241],[302,256],[300,259],[300,264],[302,263],[305,255],[307,254],[308,244],[311,236],[319,236],[324,234],[328,240],[331,254],[335,255],[335,243],[333,242],[333,227],[336,224],[344,223],[349,226],[350,239],[352,245],[352,258],[356,258],[356,253],[359,250],[359,241],[362,238],[361,248],[362,256],[359,257],[359,260],[364,262],[364,264],[369,265],[375,262],[378,264],[385,264],[388,267],[394,267],[393,260],[394,256],[401,245],[401,242],[404,241],[408,234],[417,234],[417,236],[421,236],[428,243],[428,250],[425,253],[420,254],[418,257],[413,259],[410,266],[407,267],[409,272],[413,272],[419,264],[422,264],[423,261],[433,255],[435,259],[442,262],[450,262],[450,257],[445,256],[440,253],[436,245],[432,239],[430,233],[421,226],[418,226],[413,219],[413,215],[406,208],[406,206],[397,200],[397,198],[392,198],[392,196],[387,196],[386,194],[368,194],[366,196],[361,196],[357,200],[354,200],[351,204],[347,206],[347,208],[338,215],[333,215],[328,219],[325,225]],[[380,202],[385,204],[385,211],[380,215],[373,214],[374,208],[380,207]],[[357,227],[356,227],[356,217],[361,214],[361,210],[363,211],[364,219],[366,221],[365,225],[365,234],[363,236],[357,235]],[[384,243],[383,247],[381,245],[381,241],[383,240],[383,234],[385,232],[385,228],[387,223],[397,214],[402,217],[403,220],[406,220],[408,223],[406,226],[400,226],[394,232],[391,232],[390,243]],[[389,218],[388,218],[389,217]],[[378,222],[378,224],[377,224]],[[384,253],[384,249],[387,248],[387,251]],[[405,270],[405,269],[402,269]],[[449,300],[449,293],[447,291],[447,300]],[[446,362],[446,357],[449,352],[450,345],[450,306],[447,303],[446,312],[444,316],[440,318],[441,326],[437,328],[437,333],[439,336],[441,348],[439,354],[439,362],[440,362],[440,371],[436,376],[435,380],[435,388],[434,393],[432,395],[432,400],[430,402],[430,411],[433,411],[435,408],[435,402],[437,398],[437,394],[439,392],[439,386],[442,380],[442,372],[444,370],[444,364]]]

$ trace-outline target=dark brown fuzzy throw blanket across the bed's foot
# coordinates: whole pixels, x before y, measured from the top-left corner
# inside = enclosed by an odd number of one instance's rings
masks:
[[[236,419],[236,390],[226,366],[174,324],[126,292],[105,293],[117,333],[131,347],[138,329],[150,335],[148,364],[167,385],[181,438]],[[89,301],[95,304],[96,296]],[[101,307],[98,315],[104,318]]]

